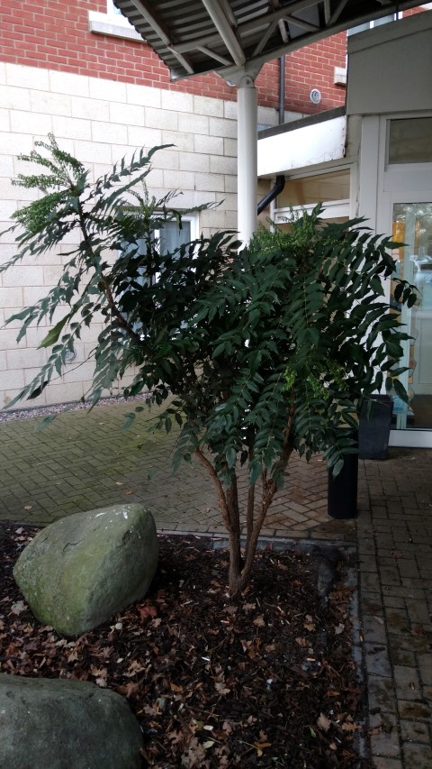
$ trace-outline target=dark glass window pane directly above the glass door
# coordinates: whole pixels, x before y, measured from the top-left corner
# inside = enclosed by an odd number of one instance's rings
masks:
[[[389,121],[389,163],[432,162],[432,117]]]

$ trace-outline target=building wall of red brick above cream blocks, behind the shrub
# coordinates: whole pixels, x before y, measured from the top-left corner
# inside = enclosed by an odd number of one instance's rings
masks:
[[[200,215],[203,233],[235,228],[236,88],[213,74],[172,83],[166,67],[144,41],[92,32],[92,12],[106,13],[105,0],[72,4],[30,0],[25,7],[15,0],[2,0],[0,230],[30,198],[29,191],[11,184],[19,172],[28,172],[17,155],[31,151],[34,140],[45,139],[49,132],[90,165],[94,176],[142,146],[175,144],[157,154],[149,177],[151,192],[161,197],[169,189],[179,188],[183,192],[179,205],[184,207],[219,203],[215,211]],[[345,35],[337,38],[333,54],[343,66]],[[311,104],[309,90],[317,86],[315,73],[318,77],[327,67],[320,58],[321,45],[328,46],[328,42],[315,44],[315,58],[306,60],[302,50],[287,57],[285,119],[316,113],[345,100],[344,89],[335,87],[329,78],[326,100],[322,105]],[[302,87],[295,90],[294,82],[301,81]],[[278,62],[270,62],[257,78],[259,124],[278,123],[278,82]],[[265,187],[262,182],[263,195]],[[17,345],[19,324],[4,328],[4,320],[45,296],[56,284],[65,250],[50,253],[43,261],[27,260],[0,276],[0,408],[33,378],[47,354],[38,349],[46,326],[30,328]],[[7,261],[13,253],[11,236],[4,235],[0,260]],[[24,405],[81,398],[93,371],[86,358],[99,330],[100,326],[94,326],[92,334],[77,346],[76,360],[68,366],[67,375]]]

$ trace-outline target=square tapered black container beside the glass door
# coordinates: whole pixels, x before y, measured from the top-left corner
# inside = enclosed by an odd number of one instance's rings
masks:
[[[367,418],[367,402],[360,413],[358,454],[360,459],[388,459],[393,401],[390,395],[373,395],[373,410]]]

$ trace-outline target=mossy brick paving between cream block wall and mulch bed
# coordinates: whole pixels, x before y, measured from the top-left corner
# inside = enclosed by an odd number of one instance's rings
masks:
[[[151,508],[159,529],[221,529],[211,479],[199,462],[184,462],[173,475],[175,429],[149,431],[153,412],[123,430],[128,405],[67,412],[43,431],[40,419],[0,424],[2,493],[0,518],[48,524],[79,510],[123,501]],[[151,419],[151,421],[150,421]],[[246,498],[247,479],[239,483]],[[320,457],[311,466],[293,457],[284,490],[277,493],[266,519],[266,536],[338,538],[354,541],[354,521],[327,516],[327,471]]]

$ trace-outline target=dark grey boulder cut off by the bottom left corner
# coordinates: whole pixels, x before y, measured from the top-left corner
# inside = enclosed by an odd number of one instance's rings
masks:
[[[94,683],[0,673],[4,769],[135,769],[142,735],[128,703]]]

